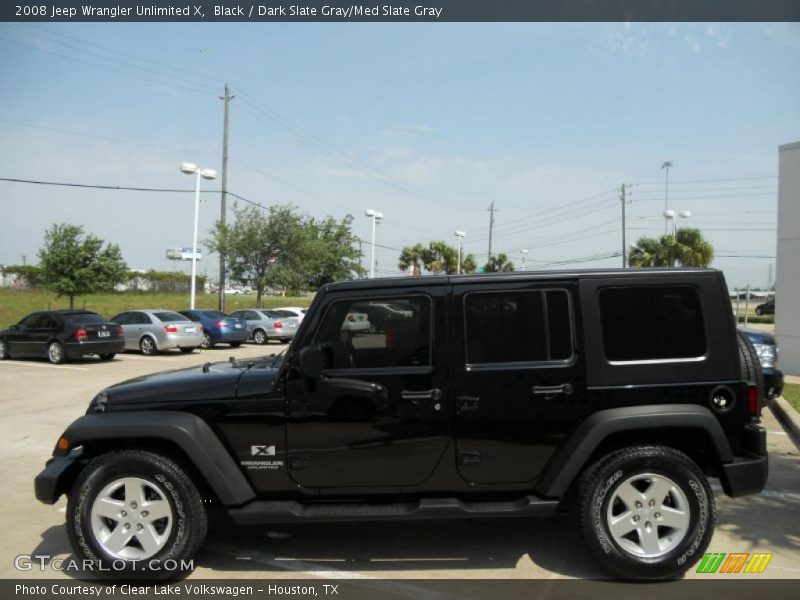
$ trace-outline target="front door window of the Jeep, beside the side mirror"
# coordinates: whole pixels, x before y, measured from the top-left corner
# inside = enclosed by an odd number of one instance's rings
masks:
[[[325,350],[326,368],[371,369],[431,364],[431,304],[428,298],[393,299],[402,313],[385,314],[381,300],[331,304],[315,342]],[[359,314],[356,319],[354,315]]]

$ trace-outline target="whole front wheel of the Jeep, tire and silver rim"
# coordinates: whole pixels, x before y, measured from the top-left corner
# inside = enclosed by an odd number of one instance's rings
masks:
[[[75,552],[115,578],[169,579],[187,569],[206,534],[203,501],[186,472],[148,451],[101,455],[67,504]]]

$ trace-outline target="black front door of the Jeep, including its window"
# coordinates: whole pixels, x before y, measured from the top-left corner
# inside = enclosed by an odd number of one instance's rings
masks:
[[[295,347],[317,345],[323,376],[290,368],[289,469],[314,488],[416,486],[448,446],[442,365],[445,286],[347,293],[320,306]],[[441,350],[437,350],[441,348]]]

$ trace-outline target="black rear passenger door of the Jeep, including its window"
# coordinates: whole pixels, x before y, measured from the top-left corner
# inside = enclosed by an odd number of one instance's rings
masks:
[[[470,483],[534,482],[585,414],[576,289],[454,286],[456,460]]]

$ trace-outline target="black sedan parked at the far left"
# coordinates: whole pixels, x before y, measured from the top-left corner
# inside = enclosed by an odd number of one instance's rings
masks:
[[[0,331],[0,359],[47,358],[60,364],[97,354],[101,360],[111,360],[124,346],[121,327],[86,310],[35,312]]]

